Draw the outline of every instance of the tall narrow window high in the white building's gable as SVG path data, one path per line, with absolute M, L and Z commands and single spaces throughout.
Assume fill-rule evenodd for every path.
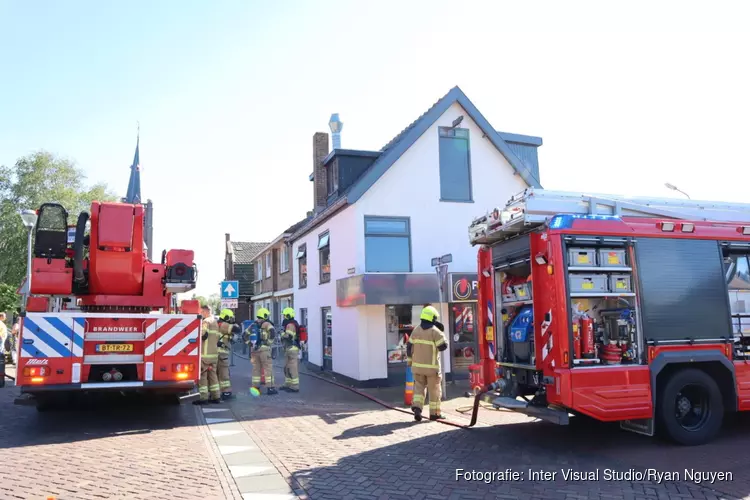
M 440 127 L 440 201 L 472 201 L 469 130 Z

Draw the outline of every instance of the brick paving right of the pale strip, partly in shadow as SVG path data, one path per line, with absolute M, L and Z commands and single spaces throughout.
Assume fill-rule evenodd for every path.
M 245 389 L 247 363 L 236 363 L 235 385 Z M 280 369 L 276 377 L 281 377 Z M 747 420 L 735 424 L 716 444 L 686 449 L 589 420 L 562 428 L 489 410 L 482 420 L 504 425 L 466 431 L 437 423 L 416 424 L 406 415 L 326 382 L 303 375 L 302 385 L 299 395 L 250 399 L 240 394 L 233 410 L 248 433 L 275 456 L 287 479 L 313 499 L 713 499 L 750 494 L 750 472 L 743 467 L 750 444 L 750 432 L 742 429 Z M 560 472 L 568 468 L 598 469 L 602 475 L 605 468 L 682 472 L 685 467 L 732 471 L 734 480 L 696 485 L 602 478 L 566 484 Z M 455 477 L 456 469 L 507 468 L 522 472 L 524 480 L 486 484 Z M 529 480 L 529 469 L 557 471 L 556 481 Z

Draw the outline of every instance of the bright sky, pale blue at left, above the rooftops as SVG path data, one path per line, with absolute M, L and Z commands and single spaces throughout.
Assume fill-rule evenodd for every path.
M 155 254 L 194 249 L 202 294 L 224 233 L 312 208 L 331 113 L 379 149 L 455 85 L 544 139 L 545 188 L 750 202 L 748 7 L 521 4 L 0 0 L 0 163 L 46 149 L 124 195 L 140 122 Z

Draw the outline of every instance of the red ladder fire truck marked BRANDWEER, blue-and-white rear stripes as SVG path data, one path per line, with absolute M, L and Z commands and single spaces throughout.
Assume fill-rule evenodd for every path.
M 93 202 L 74 230 L 54 203 L 37 211 L 21 313 L 17 404 L 48 409 L 93 391 L 143 391 L 191 399 L 200 374 L 192 250 L 151 262 L 144 208 Z

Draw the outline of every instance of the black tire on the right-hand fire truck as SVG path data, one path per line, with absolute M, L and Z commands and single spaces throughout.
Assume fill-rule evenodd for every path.
M 716 381 L 702 370 L 680 370 L 659 391 L 656 415 L 672 441 L 696 446 L 711 441 L 724 420 L 724 402 Z

